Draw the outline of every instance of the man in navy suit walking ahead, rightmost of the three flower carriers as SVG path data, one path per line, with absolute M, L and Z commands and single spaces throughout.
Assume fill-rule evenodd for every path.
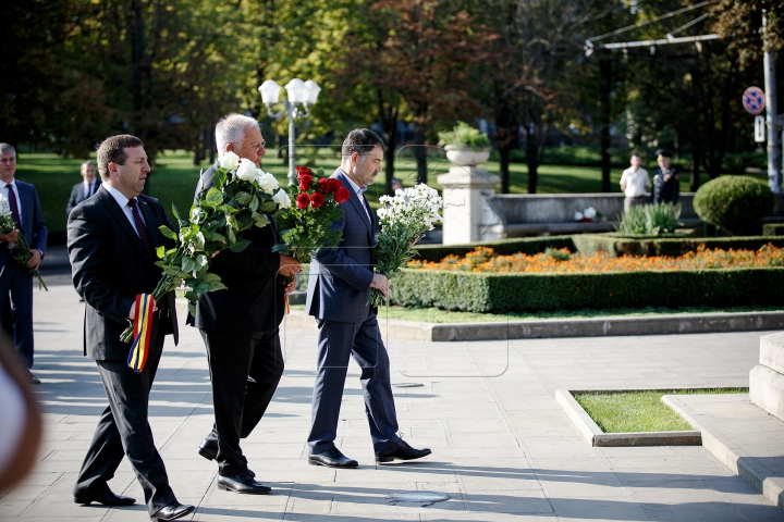
M 362 369 L 359 381 L 376 462 L 419 459 L 430 450 L 414 449 L 397 435 L 389 356 L 376 310 L 367 303 L 371 288 L 384 296 L 389 289 L 387 277 L 372 272 L 376 225 L 365 198 L 367 186 L 381 172 L 383 141 L 370 129 L 354 129 L 343 141 L 342 156 L 341 166 L 331 177 L 351 194 L 341 203 L 343 216 L 332 224 L 343 232 L 343 239 L 338 248 L 319 250 L 310 263 L 305 304 L 319 328 L 308 462 L 331 468 L 358 465 L 334 445 L 350 356 Z

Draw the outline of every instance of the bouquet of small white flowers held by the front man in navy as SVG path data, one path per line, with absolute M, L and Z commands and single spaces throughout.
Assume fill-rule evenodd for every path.
M 375 271 L 392 278 L 414 257 L 414 245 L 422 233 L 432 231 L 436 223 L 443 221 L 439 213 L 443 200 L 438 190 L 421 184 L 399 188 L 394 196 L 381 196 L 379 202 L 383 207 L 378 211 L 381 232 L 373 247 Z M 369 304 L 378 307 L 383 302 L 383 294 L 373 288 Z

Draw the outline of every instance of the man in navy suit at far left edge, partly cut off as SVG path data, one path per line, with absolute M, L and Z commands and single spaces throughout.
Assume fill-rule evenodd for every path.
M 33 368 L 33 274 L 46 251 L 47 226 L 44 221 L 38 192 L 29 183 L 14 179 L 16 173 L 16 151 L 8 144 L 0 144 L 0 194 L 5 199 L 5 210 L 11 212 L 16 228 L 8 234 L 0 232 L 0 318 L 5 313 L 8 295 L 11 291 L 13 306 L 13 339 L 22 363 L 27 368 L 30 384 L 40 384 L 38 377 L 29 372 Z M 20 231 L 30 248 L 30 259 L 26 266 L 13 260 L 10 248 L 19 237 Z M 11 333 L 11 332 L 9 332 Z

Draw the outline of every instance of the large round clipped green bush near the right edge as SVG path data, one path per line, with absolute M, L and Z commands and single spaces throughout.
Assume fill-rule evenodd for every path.
M 774 204 L 768 185 L 749 176 L 720 176 L 702 185 L 694 198 L 697 215 L 736 236 L 758 226 Z

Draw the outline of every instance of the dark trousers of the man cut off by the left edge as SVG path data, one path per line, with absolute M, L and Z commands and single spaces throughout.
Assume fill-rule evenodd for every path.
M 0 318 L 5 312 L 11 290 L 11 316 L 13 321 L 14 347 L 22 362 L 33 368 L 33 276 L 27 266 L 22 266 L 8 253 L 5 268 L 0 275 Z

